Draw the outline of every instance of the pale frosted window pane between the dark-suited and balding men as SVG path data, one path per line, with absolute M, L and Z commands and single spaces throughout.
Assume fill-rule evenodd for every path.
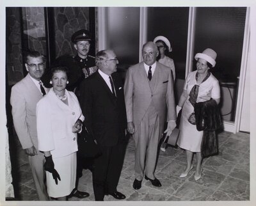
M 113 49 L 118 70 L 126 70 L 139 61 L 140 8 L 106 8 L 106 49 Z

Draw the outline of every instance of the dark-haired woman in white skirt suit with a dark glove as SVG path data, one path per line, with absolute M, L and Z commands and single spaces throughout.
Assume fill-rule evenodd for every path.
M 67 68 L 52 68 L 52 88 L 36 105 L 38 149 L 44 152 L 47 192 L 67 200 L 76 184 L 77 132 L 84 116 L 76 95 L 65 88 Z

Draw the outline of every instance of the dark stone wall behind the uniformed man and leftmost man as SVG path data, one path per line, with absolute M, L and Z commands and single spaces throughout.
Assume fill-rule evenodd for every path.
M 55 7 L 53 9 L 54 20 L 53 22 L 50 20 L 49 23 L 54 24 L 54 56 L 58 57 L 63 54 L 74 56 L 76 51 L 71 42 L 71 36 L 79 29 L 89 30 L 89 8 Z M 6 72 L 8 73 L 8 85 L 13 85 L 24 77 L 22 49 L 24 51 L 27 49 L 35 50 L 46 55 L 43 7 L 6 8 Z

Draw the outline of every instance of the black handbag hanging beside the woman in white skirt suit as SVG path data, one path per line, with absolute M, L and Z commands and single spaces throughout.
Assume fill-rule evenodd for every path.
M 97 145 L 92 133 L 86 129 L 85 125 L 83 125 L 82 132 L 77 138 L 77 145 L 78 155 L 81 157 L 99 157 L 102 155 L 99 145 Z

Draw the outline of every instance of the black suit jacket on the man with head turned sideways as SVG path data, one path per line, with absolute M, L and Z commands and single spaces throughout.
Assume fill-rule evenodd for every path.
M 81 83 L 80 104 L 86 125 L 92 131 L 97 143 L 113 146 L 124 138 L 127 127 L 124 103 L 124 89 L 117 72 L 111 75 L 116 97 L 99 72 L 95 72 Z

